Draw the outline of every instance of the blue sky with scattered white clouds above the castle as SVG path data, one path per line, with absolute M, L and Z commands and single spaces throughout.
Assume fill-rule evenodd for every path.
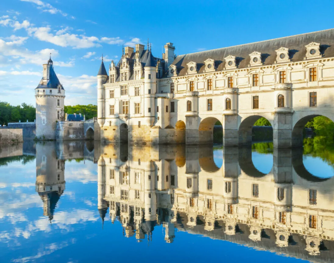
M 0 101 L 35 105 L 51 53 L 65 105 L 97 104 L 96 74 L 118 62 L 122 45 L 152 43 L 176 54 L 334 27 L 334 1 L 0 1 Z

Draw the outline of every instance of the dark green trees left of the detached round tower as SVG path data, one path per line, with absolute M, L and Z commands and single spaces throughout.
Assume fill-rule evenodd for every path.
M 8 122 L 33 122 L 36 119 L 36 109 L 32 105 L 22 103 L 12 106 L 7 102 L 0 101 L 0 125 L 7 125 Z

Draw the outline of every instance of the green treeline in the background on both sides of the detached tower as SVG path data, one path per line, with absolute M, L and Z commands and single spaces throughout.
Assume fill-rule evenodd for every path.
M 96 105 L 75 105 L 65 106 L 65 113 L 85 114 L 86 120 L 98 116 L 98 107 Z M 36 109 L 32 105 L 22 103 L 18 106 L 12 106 L 8 102 L 0 101 L 0 125 L 8 125 L 8 122 L 33 122 L 36 119 Z

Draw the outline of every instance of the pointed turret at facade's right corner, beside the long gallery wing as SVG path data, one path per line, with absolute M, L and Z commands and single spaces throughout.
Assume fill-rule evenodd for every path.
M 144 67 L 144 93 L 145 93 L 145 117 L 146 125 L 152 126 L 155 119 L 155 93 L 157 87 L 156 81 L 156 63 L 151 50 L 148 51 Z

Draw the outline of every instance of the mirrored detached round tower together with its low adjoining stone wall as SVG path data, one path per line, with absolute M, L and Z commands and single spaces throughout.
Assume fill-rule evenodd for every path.
M 44 142 L 36 144 L 35 189 L 43 201 L 43 215 L 53 219 L 57 202 L 65 190 L 65 159 L 94 158 L 91 142 Z M 90 156 L 93 155 L 93 157 Z

